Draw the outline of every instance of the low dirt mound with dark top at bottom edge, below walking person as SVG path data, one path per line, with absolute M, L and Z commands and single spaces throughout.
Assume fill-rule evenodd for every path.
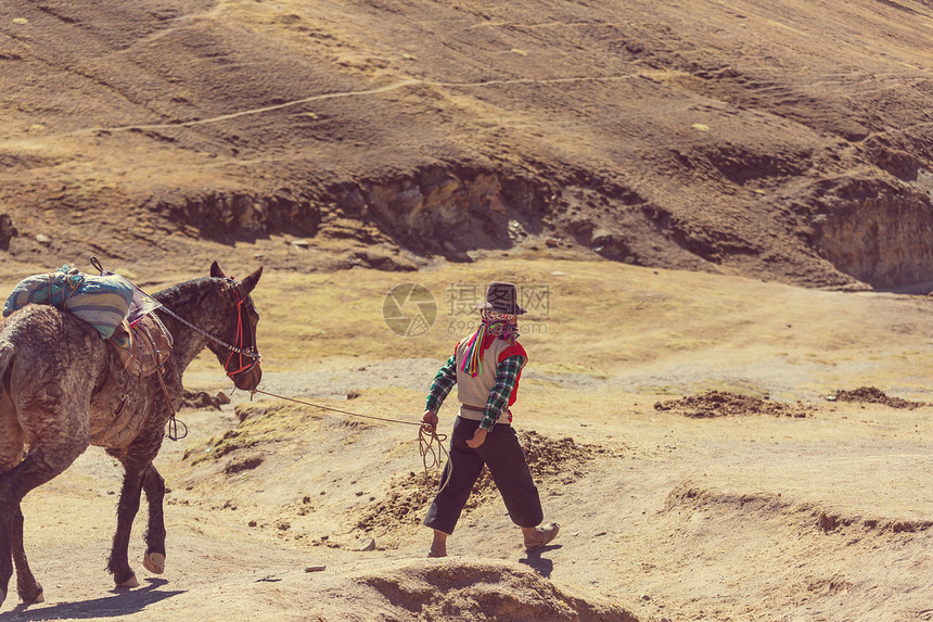
M 408 561 L 350 579 L 384 620 L 637 622 L 628 610 L 570 595 L 534 570 L 480 559 Z M 357 596 L 355 596 L 357 597 Z M 388 611 L 392 615 L 388 615 Z

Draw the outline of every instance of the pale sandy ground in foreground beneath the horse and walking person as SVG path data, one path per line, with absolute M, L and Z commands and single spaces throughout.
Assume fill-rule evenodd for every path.
M 386 404 L 400 404 L 414 418 L 417 388 L 437 363 L 267 373 L 265 386 L 358 414 L 386 416 Z M 269 397 L 244 404 L 241 394 L 220 411 L 184 411 L 190 436 L 166 441 L 158 458 L 172 488 L 164 575 L 137 562 L 142 586 L 113 588 L 104 564 L 119 480 L 111 460 L 91 449 L 27 497 L 27 546 L 47 601 L 24 607 L 13 594 L 2 615 L 933 619 L 931 407 L 818 399 L 789 405 L 805 416 L 749 407 L 698 417 L 686 407 L 659 409 L 663 401 L 610 383 L 588 389 L 593 407 L 583 408 L 567 399 L 584 394 L 570 377 L 562 385 L 529 373 L 524 390 L 537 397 L 532 414 L 516 418 L 521 430 L 540 435 L 539 449 L 560 449 L 538 480 L 547 518 L 562 533 L 539 554 L 524 554 L 487 490 L 461 519 L 450 557 L 425 559 L 429 534 L 418 522 L 431 485 L 418 473 L 413 427 L 290 410 Z M 315 395 L 324 385 L 331 393 Z M 342 386 L 360 395 L 334 399 Z M 448 407 L 442 416 L 449 424 Z M 264 421 L 301 430 L 264 435 Z M 234 429 L 242 443 L 197 461 Z M 573 442 L 559 446 L 567 436 Z M 254 455 L 263 458 L 258 466 L 230 467 Z M 389 504 L 393 492 L 410 496 L 411 507 Z M 369 531 L 360 529 L 363 519 Z M 375 549 L 358 550 L 367 537 Z M 141 555 L 135 537 L 131 559 Z

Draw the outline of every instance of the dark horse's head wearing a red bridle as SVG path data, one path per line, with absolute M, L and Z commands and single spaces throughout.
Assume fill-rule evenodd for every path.
M 242 281 L 237 281 L 228 277 L 217 262 L 210 265 L 210 276 L 225 281 L 221 295 L 226 300 L 223 306 L 229 308 L 229 312 L 226 312 L 228 316 L 221 318 L 225 329 L 223 334 L 219 337 L 235 350 L 215 343 L 208 343 L 208 347 L 223 366 L 237 389 L 243 391 L 253 391 L 263 378 L 263 370 L 259 369 L 259 348 L 256 345 L 256 325 L 259 322 L 259 314 L 256 313 L 253 299 L 250 297 L 261 275 L 260 267 Z

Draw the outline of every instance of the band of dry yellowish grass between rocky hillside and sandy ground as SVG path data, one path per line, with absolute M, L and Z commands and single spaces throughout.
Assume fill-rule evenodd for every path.
M 264 369 L 446 358 L 475 322 L 475 315 L 451 310 L 456 301 L 472 299 L 451 292 L 472 289 L 482 296 L 491 280 L 549 294 L 549 305 L 534 305 L 522 317 L 522 342 L 541 372 L 608 379 L 677 370 L 680 377 L 695 373 L 696 390 L 755 394 L 764 390 L 739 371 L 756 366 L 767 375 L 768 366 L 781 366 L 798 369 L 801 381 L 819 390 L 896 384 L 922 392 L 926 383 L 918 370 L 933 360 L 926 297 L 815 291 L 609 262 L 513 258 L 405 274 L 266 272 L 254 294 Z M 417 337 L 399 337 L 383 317 L 386 294 L 404 283 L 423 285 L 436 301 L 434 323 Z M 4 284 L 9 291 L 14 281 Z M 410 305 L 402 310 L 416 312 Z M 209 382 L 216 365 L 203 355 L 191 373 Z M 738 371 L 706 379 L 704 370 L 718 368 Z M 663 386 L 651 391 L 664 393 Z

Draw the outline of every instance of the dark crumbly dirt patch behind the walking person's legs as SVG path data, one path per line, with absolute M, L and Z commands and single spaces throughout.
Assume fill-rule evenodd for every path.
M 519 442 L 536 482 L 557 480 L 562 484 L 572 483 L 584 477 L 583 467 L 586 462 L 606 452 L 598 445 L 577 444 L 570 436 L 550 439 L 535 431 L 520 432 Z M 410 471 L 396 478 L 385 498 L 366 508 L 357 522 L 357 529 L 386 532 L 398 524 L 420 523 L 437 491 L 438 480 L 438 471 L 427 474 Z M 484 468 L 467 502 L 464 513 L 494 498 L 497 490 L 488 469 Z

